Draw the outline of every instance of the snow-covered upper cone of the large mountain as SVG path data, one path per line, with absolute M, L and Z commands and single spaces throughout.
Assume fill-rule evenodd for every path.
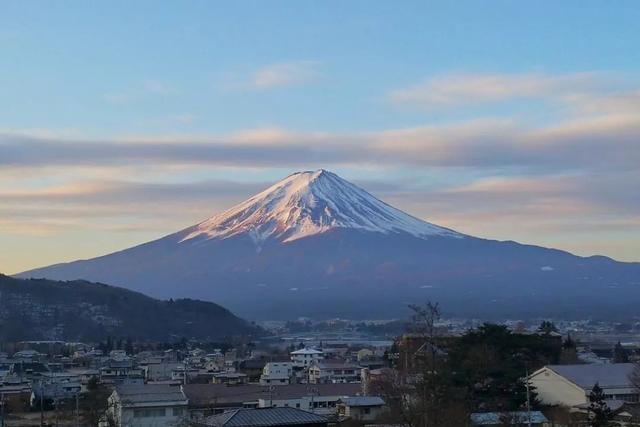
M 256 242 L 288 242 L 336 228 L 416 237 L 463 237 L 408 215 L 363 189 L 319 169 L 297 172 L 245 202 L 188 229 L 182 241 L 248 233 Z

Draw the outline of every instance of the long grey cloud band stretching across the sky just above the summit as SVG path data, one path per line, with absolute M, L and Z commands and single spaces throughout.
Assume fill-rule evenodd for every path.
M 515 120 L 474 120 L 382 132 L 258 129 L 230 135 L 136 139 L 0 135 L 0 169 L 34 165 L 209 164 L 235 167 L 388 165 L 629 169 L 640 164 L 640 115 L 567 120 L 531 128 Z

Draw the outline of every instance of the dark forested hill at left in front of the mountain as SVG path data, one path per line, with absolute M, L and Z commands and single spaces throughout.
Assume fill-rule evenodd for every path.
M 86 281 L 16 279 L 0 274 L 0 340 L 220 340 L 260 330 L 217 304 L 161 301 Z

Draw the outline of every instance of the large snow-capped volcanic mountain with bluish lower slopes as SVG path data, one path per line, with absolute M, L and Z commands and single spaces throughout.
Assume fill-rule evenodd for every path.
M 161 239 L 18 276 L 209 299 L 262 319 L 396 317 L 426 300 L 450 316 L 626 318 L 640 303 L 639 263 L 462 234 L 325 170 Z

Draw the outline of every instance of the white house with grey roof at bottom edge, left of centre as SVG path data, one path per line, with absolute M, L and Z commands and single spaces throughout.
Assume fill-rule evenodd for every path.
M 105 425 L 116 427 L 169 427 L 185 422 L 189 401 L 180 387 L 120 385 L 109 396 Z M 109 421 L 109 422 L 107 422 Z

